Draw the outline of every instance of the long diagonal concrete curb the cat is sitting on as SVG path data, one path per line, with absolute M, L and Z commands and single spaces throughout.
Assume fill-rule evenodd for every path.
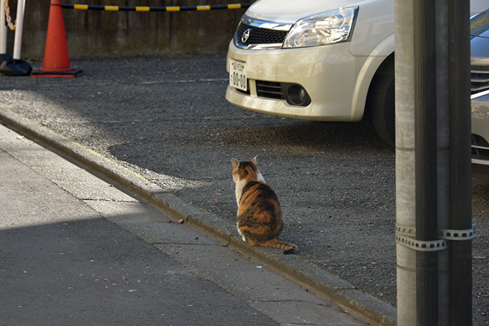
M 214 215 L 198 210 L 173 193 L 163 191 L 151 181 L 121 167 L 93 150 L 57 135 L 42 125 L 32 123 L 8 109 L 0 111 L 0 119 L 11 128 L 49 147 L 50 150 L 54 150 L 102 179 L 151 203 L 172 218 L 182 219 L 191 227 L 206 232 L 221 242 L 228 243 L 232 249 L 247 254 L 281 274 L 303 283 L 361 319 L 376 325 L 396 325 L 397 310 L 392 305 L 356 289 L 351 283 L 327 273 L 310 262 L 304 262 L 300 259 L 300 255 L 284 256 L 281 251 L 274 249 L 249 247 L 242 242 L 240 237 L 237 237 L 235 225 L 217 223 L 219 218 Z

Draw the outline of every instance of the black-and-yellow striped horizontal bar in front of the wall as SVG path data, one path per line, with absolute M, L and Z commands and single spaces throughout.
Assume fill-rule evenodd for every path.
M 164 7 L 147 7 L 147 6 L 99 6 L 91 4 L 60 4 L 64 9 L 79 10 L 105 10 L 105 11 L 208 11 L 219 9 L 242 9 L 251 6 L 247 4 L 211 4 L 202 6 L 164 6 Z

